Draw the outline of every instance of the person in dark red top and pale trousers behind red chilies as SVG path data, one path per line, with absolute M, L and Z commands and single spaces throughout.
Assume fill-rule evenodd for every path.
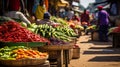
M 4 15 L 13 19 L 19 19 L 27 25 L 30 25 L 31 22 L 25 17 L 25 15 L 20 12 L 21 6 L 20 6 L 20 0 L 9 0 L 9 6 L 8 6 L 8 12 L 6 12 Z

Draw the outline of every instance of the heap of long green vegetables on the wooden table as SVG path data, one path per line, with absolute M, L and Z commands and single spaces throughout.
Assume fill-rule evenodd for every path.
M 52 27 L 47 24 L 39 25 L 36 30 L 36 33 L 40 34 L 41 36 L 50 39 L 51 43 L 57 41 L 58 43 L 61 42 L 69 42 L 71 41 L 71 37 L 76 36 L 73 29 L 69 27 Z

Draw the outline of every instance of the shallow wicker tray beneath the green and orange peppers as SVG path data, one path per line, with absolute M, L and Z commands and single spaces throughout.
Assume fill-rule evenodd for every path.
M 0 60 L 0 63 L 5 66 L 28 66 L 28 65 L 38 65 L 43 64 L 48 59 L 21 59 L 21 60 Z

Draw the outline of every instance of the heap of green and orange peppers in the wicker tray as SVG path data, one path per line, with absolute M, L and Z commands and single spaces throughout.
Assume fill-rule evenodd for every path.
M 47 53 L 32 50 L 24 46 L 12 46 L 0 49 L 0 59 L 2 60 L 39 59 L 47 57 Z

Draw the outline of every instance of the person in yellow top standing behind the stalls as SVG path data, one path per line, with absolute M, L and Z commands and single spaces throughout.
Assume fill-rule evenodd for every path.
M 44 0 L 39 1 L 39 5 L 36 8 L 35 11 L 35 17 L 37 20 L 43 19 L 44 13 L 46 12 L 45 5 L 44 5 Z

